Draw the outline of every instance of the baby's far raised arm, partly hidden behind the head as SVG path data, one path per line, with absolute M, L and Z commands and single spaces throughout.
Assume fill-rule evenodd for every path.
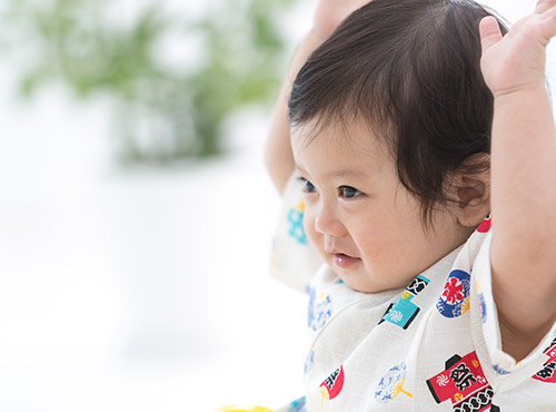
M 294 155 L 289 141 L 288 99 L 297 72 L 309 55 L 319 47 L 336 27 L 354 10 L 369 0 L 320 0 L 312 29 L 298 46 L 278 95 L 265 149 L 265 163 L 274 184 L 281 193 L 294 171 Z

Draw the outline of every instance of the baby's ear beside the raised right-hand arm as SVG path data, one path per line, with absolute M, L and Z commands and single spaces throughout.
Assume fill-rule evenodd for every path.
M 458 202 L 455 213 L 463 226 L 477 226 L 490 213 L 489 163 L 488 154 L 473 155 L 454 178 L 453 194 Z

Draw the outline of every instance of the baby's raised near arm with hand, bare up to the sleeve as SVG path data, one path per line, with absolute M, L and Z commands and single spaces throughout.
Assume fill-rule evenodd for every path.
M 556 0 L 500 36 L 480 23 L 481 69 L 495 97 L 492 144 L 493 292 L 504 350 L 525 357 L 556 320 L 556 127 L 545 87 Z

